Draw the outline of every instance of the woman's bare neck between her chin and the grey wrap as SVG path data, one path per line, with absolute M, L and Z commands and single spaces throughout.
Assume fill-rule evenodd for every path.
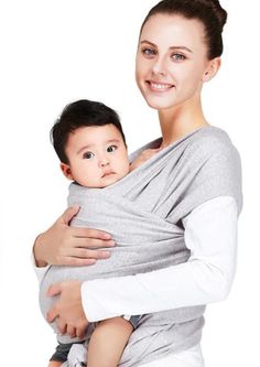
M 162 131 L 162 148 L 172 144 L 189 132 L 209 126 L 206 121 L 202 105 L 176 106 L 171 109 L 159 110 L 159 120 Z

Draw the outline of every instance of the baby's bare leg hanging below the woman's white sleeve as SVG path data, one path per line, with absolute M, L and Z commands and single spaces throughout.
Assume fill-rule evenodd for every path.
M 123 317 L 100 321 L 90 337 L 87 367 L 118 366 L 132 331 L 131 323 Z

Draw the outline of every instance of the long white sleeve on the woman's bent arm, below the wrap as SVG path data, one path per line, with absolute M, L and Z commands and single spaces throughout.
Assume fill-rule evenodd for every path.
M 90 322 L 123 314 L 206 304 L 230 290 L 237 251 L 238 208 L 219 196 L 196 207 L 184 220 L 187 262 L 130 277 L 86 281 L 83 306 Z

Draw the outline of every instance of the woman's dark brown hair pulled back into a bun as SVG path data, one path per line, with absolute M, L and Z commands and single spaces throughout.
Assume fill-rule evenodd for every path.
M 145 17 L 140 34 L 147 21 L 155 14 L 178 14 L 186 19 L 196 19 L 204 24 L 205 43 L 208 60 L 223 54 L 223 28 L 227 21 L 227 12 L 218 0 L 163 0 L 153 7 Z

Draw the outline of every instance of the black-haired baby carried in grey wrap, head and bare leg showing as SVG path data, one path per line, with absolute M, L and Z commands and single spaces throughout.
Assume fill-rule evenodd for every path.
M 51 137 L 64 175 L 89 188 L 116 183 L 158 151 L 145 151 L 130 165 L 118 115 L 104 104 L 90 100 L 66 106 L 53 126 Z M 118 366 L 140 317 L 113 317 L 97 323 L 86 350 L 86 366 Z M 59 343 L 48 366 L 72 366 L 69 357 L 67 361 L 72 345 Z

